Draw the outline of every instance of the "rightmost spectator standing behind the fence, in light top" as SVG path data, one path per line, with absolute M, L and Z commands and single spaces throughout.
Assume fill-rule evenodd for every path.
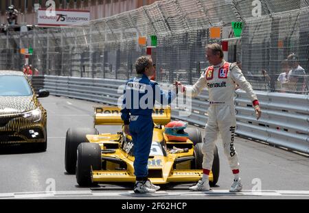
M 299 65 L 299 61 L 295 53 L 288 55 L 287 60 L 290 68 L 288 73 L 288 84 L 291 86 L 291 92 L 296 94 L 304 94 L 304 92 L 306 92 L 306 72 L 304 68 Z

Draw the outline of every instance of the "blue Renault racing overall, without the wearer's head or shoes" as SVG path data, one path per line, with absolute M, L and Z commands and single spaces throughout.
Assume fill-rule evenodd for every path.
M 175 97 L 176 92 L 163 92 L 157 82 L 150 81 L 144 74 L 126 82 L 121 112 L 124 125 L 129 124 L 133 139 L 133 166 L 137 178 L 148 176 L 148 158 L 154 127 L 152 110 L 155 101 L 167 105 Z

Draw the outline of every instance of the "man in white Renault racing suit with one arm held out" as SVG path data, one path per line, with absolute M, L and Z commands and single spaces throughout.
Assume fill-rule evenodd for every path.
M 230 64 L 223 60 L 223 51 L 218 44 L 207 45 L 206 57 L 209 64 L 213 64 L 205 69 L 198 82 L 194 86 L 183 86 L 180 82 L 175 82 L 181 86 L 185 95 L 196 97 L 203 88 L 207 87 L 209 92 L 208 121 L 205 127 L 205 138 L 202 147 L 203 153 L 203 178 L 196 186 L 190 187 L 194 191 L 209 190 L 209 172 L 214 161 L 214 147 L 218 132 L 221 134 L 225 155 L 229 161 L 229 166 L 234 175 L 230 192 L 242 190 L 239 177 L 238 155 L 234 149 L 234 134 L 236 131 L 236 114 L 233 103 L 233 95 L 236 84 L 249 95 L 257 118 L 261 116 L 261 110 L 257 96 L 249 82 L 242 75 L 242 71 L 236 64 Z

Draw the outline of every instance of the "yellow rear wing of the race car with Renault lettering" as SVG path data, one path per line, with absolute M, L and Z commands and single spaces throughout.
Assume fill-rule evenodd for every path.
M 152 110 L 152 119 L 155 124 L 165 125 L 170 122 L 170 107 Z M 121 112 L 118 107 L 95 107 L 94 125 L 123 125 Z

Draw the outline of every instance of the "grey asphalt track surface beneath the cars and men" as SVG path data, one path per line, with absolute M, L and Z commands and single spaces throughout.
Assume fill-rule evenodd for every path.
M 236 138 L 243 192 L 229 193 L 232 174 L 217 141 L 220 177 L 211 192 L 190 192 L 192 184 L 166 186 L 152 195 L 136 195 L 131 184 L 81 188 L 65 173 L 65 134 L 69 127 L 93 126 L 93 103 L 65 97 L 41 99 L 47 109 L 47 151 L 27 147 L 0 151 L 0 199 L 309 199 L 309 158 L 259 142 Z M 120 126 L 101 126 L 100 132 Z M 201 128 L 202 132 L 203 129 Z M 259 187 L 260 186 L 260 187 Z M 258 189 L 261 190 L 258 190 Z

